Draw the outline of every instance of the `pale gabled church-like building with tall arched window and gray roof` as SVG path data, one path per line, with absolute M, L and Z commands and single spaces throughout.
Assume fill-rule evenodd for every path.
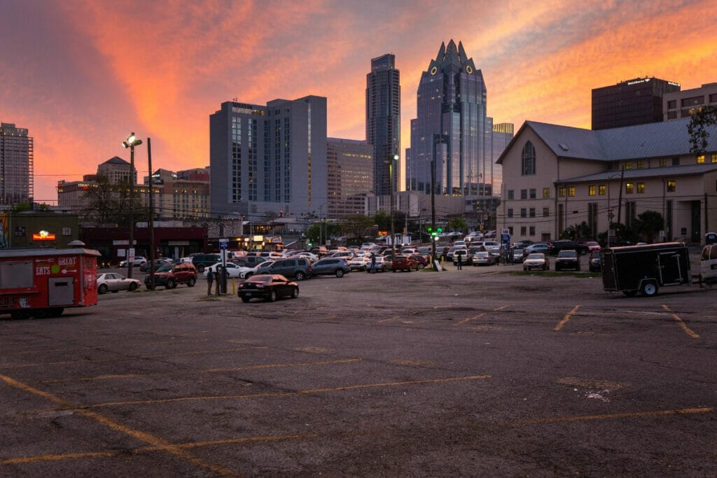
M 638 216 L 657 211 L 665 220 L 661 239 L 703 242 L 717 224 L 717 125 L 706 128 L 706 153 L 695 158 L 689 122 L 597 131 L 523 123 L 498 160 L 498 227 L 513 242 L 543 242 L 584 224 L 590 239 L 604 240 L 609 224 L 637 231 Z

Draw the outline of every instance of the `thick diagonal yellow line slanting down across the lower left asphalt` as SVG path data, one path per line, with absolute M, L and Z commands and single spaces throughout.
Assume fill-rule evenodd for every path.
M 37 388 L 34 388 L 32 386 L 29 386 L 25 383 L 19 382 L 14 380 L 13 378 L 10 378 L 8 376 L 0 375 L 0 380 L 7 383 L 9 386 L 18 388 L 19 390 L 32 393 L 36 396 L 41 396 L 42 398 L 45 398 L 52 403 L 55 403 L 62 408 L 69 408 L 72 410 L 77 410 L 77 413 L 84 416 L 87 419 L 91 419 L 93 421 L 98 422 L 99 424 L 102 424 L 106 426 L 108 429 L 111 429 L 113 431 L 117 431 L 119 433 L 125 434 L 127 436 L 131 436 L 133 439 L 143 441 L 146 444 L 149 444 L 153 447 L 155 447 L 158 451 L 166 451 L 168 454 L 174 455 L 174 457 L 177 457 L 184 462 L 188 462 L 193 464 L 196 467 L 199 467 L 201 469 L 204 469 L 206 471 L 219 474 L 221 476 L 235 476 L 237 475 L 237 472 L 235 472 L 232 469 L 229 469 L 227 467 L 223 467 L 222 465 L 217 464 L 211 464 L 208 462 L 205 462 L 203 459 L 199 457 L 195 457 L 193 454 L 189 453 L 188 451 L 179 448 L 178 446 L 175 446 L 168 441 L 165 441 L 161 438 L 158 438 L 157 436 L 153 436 L 152 434 L 148 434 L 144 431 L 131 429 L 128 426 L 125 426 L 123 424 L 120 424 L 117 421 L 114 421 L 112 419 L 108 419 L 108 417 L 103 416 L 101 414 L 98 414 L 95 411 L 86 410 L 84 408 L 80 408 L 75 406 L 72 403 L 69 403 L 62 398 L 53 395 L 52 393 L 44 392 L 42 390 L 39 390 Z

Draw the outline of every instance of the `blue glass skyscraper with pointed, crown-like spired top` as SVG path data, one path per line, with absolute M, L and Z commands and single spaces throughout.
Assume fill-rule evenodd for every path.
M 492 188 L 493 119 L 486 117 L 483 73 L 462 43 L 441 44 L 421 75 L 417 118 L 411 120 L 411 148 L 406 151 L 406 188 L 435 193 L 481 196 Z

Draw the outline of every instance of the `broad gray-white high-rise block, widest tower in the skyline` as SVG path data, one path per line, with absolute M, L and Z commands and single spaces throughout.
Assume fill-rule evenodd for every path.
M 326 97 L 222 103 L 209 116 L 209 166 L 214 216 L 326 208 Z

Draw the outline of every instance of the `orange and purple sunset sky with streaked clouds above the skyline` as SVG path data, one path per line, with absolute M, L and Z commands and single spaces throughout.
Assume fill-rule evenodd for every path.
M 0 121 L 34 138 L 35 200 L 152 138 L 154 168 L 209 165 L 209 115 L 236 97 L 328 98 L 328 135 L 365 139 L 371 58 L 401 70 L 402 151 L 421 72 L 461 41 L 488 115 L 590 128 L 591 90 L 717 81 L 715 0 L 0 0 Z M 136 150 L 146 176 L 146 145 Z

